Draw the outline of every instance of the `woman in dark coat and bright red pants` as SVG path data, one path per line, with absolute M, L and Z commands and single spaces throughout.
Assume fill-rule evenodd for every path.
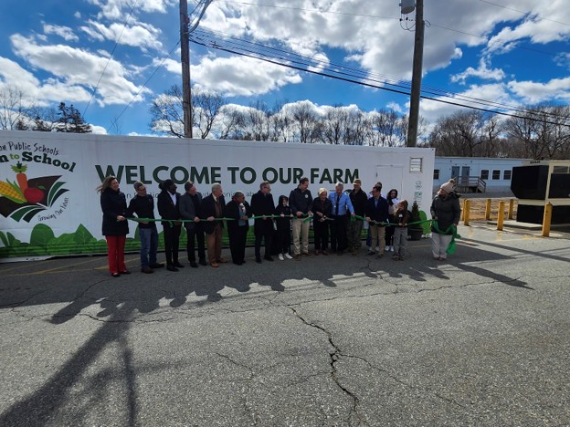
M 124 262 L 124 245 L 129 234 L 129 224 L 125 218 L 127 199 L 119 189 L 119 182 L 114 176 L 103 180 L 97 191 L 100 193 L 101 211 L 103 212 L 102 234 L 107 240 L 109 272 L 113 277 L 128 275 Z

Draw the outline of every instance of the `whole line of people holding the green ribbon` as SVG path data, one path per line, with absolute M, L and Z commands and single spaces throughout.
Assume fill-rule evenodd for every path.
M 182 227 L 187 235 L 186 253 L 191 267 L 219 267 L 227 263 L 222 256 L 222 234 L 226 224 L 231 261 L 241 266 L 246 262 L 245 249 L 249 220 L 253 219 L 255 235 L 255 260 L 272 262 L 273 248 L 281 261 L 301 260 L 302 256 L 358 255 L 362 247 L 361 234 L 364 221 L 368 224 L 367 255 L 382 257 L 394 252 L 395 260 L 406 257 L 407 225 L 411 221 L 406 200 L 398 200 L 397 191 L 382 193 L 382 183 L 376 182 L 370 193 L 364 193 L 362 182 L 355 179 L 353 189 L 344 191 L 337 182 L 334 192 L 320 188 L 313 199 L 309 179 L 301 178 L 289 197 L 280 195 L 274 203 L 269 182 L 261 182 L 259 191 L 246 201 L 245 194 L 236 192 L 226 203 L 222 185 L 214 183 L 211 193 L 203 197 L 194 182 L 185 182 L 185 193 L 178 193 L 172 180 L 159 184 L 156 204 L 160 220 L 154 217 L 154 199 L 142 182 L 134 183 L 136 195 L 127 206 L 119 182 L 108 176 L 98 187 L 103 212 L 102 234 L 108 247 L 111 276 L 130 274 L 124 262 L 124 246 L 129 234 L 128 220 L 139 225 L 141 239 L 141 271 L 151 274 L 164 267 L 157 262 L 158 231 L 161 222 L 164 234 L 164 256 L 169 271 L 179 271 L 184 265 L 179 260 L 179 244 Z M 453 225 L 459 224 L 459 193 L 453 182 L 443 184 L 431 204 L 432 255 L 446 259 L 446 248 L 454 233 Z M 313 225 L 314 250 L 309 251 L 309 229 Z M 293 251 L 290 254 L 290 236 Z M 264 245 L 263 256 L 261 246 Z M 197 251 L 197 262 L 196 253 Z

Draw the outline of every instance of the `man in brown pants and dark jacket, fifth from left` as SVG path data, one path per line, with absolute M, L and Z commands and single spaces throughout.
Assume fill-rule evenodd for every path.
M 204 233 L 206 233 L 207 255 L 210 266 L 217 268 L 220 263 L 227 263 L 222 258 L 222 231 L 226 200 L 222 191 L 222 184 L 212 184 L 212 193 L 202 199 L 202 213 L 206 217 Z

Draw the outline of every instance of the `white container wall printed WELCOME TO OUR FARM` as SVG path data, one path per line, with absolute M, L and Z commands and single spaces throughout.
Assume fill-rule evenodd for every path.
M 300 178 L 320 187 L 335 182 L 365 192 L 375 182 L 383 193 L 396 188 L 424 210 L 431 202 L 435 153 L 432 149 L 332 146 L 283 142 L 180 140 L 93 134 L 0 131 L 0 258 L 104 253 L 100 195 L 96 187 L 114 175 L 127 196 L 142 181 L 157 195 L 158 183 L 172 179 L 210 193 L 221 182 L 227 200 L 242 191 L 249 200 L 262 181 L 271 182 L 277 202 Z M 425 205 L 425 206 L 422 206 Z M 157 214 L 157 213 L 156 213 Z M 127 249 L 138 247 L 130 223 Z M 159 227 L 160 229 L 160 227 Z

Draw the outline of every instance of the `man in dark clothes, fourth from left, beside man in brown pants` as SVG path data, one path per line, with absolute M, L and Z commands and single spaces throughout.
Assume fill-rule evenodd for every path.
M 190 266 L 196 268 L 195 262 L 195 243 L 198 242 L 198 259 L 202 266 L 206 265 L 206 245 L 204 241 L 204 230 L 200 217 L 202 215 L 202 194 L 199 193 L 194 182 L 185 183 L 185 193 L 180 197 L 180 215 L 186 220 L 184 225 L 186 229 L 187 244 L 186 251 L 188 253 L 188 261 Z

